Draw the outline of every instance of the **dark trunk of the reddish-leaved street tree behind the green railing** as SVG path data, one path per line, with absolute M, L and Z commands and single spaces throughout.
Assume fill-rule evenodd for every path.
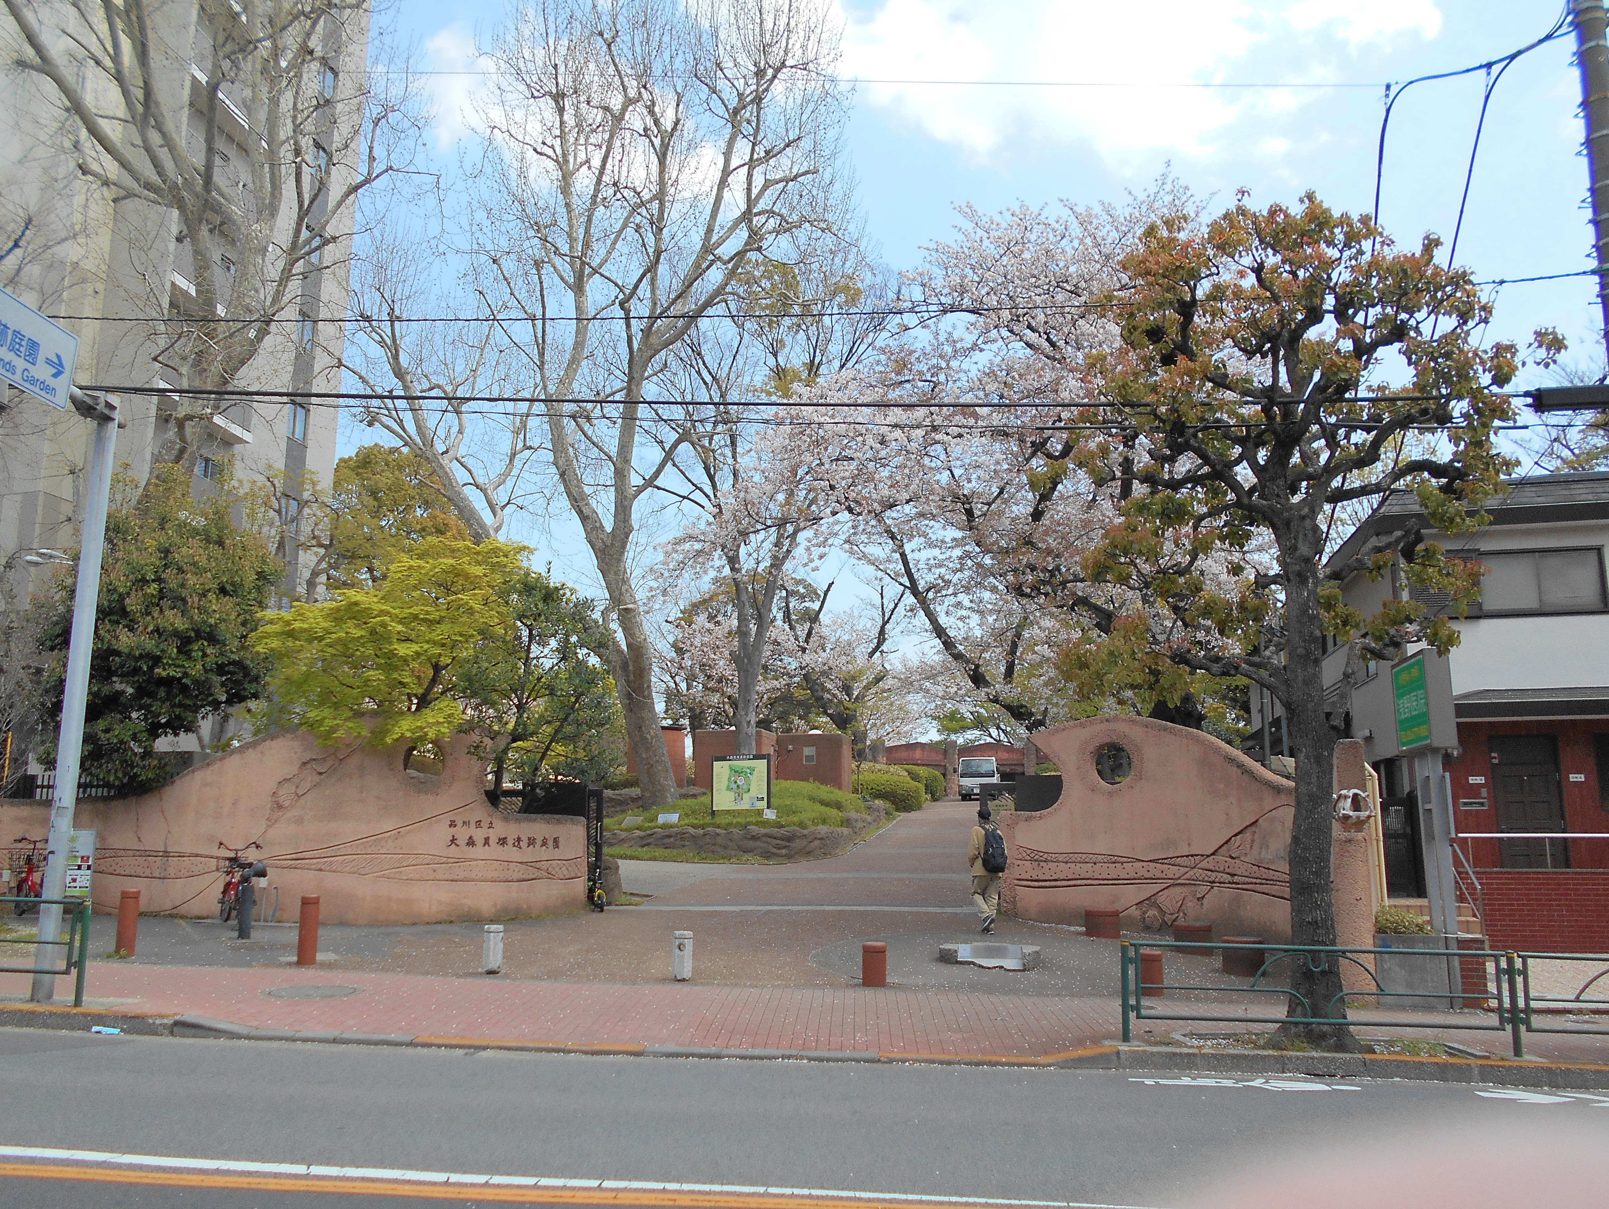
M 1290 941 L 1298 945 L 1335 944 L 1335 902 L 1331 884 L 1331 805 L 1334 740 L 1324 715 L 1324 646 L 1319 622 L 1316 526 L 1303 526 L 1289 545 L 1281 542 L 1286 574 L 1286 725 L 1297 760 L 1295 818 L 1290 823 Z M 1323 1050 L 1356 1053 L 1347 1024 L 1313 1024 L 1308 1018 L 1347 1018 L 1347 998 L 1335 955 L 1289 958 L 1292 997 L 1276 1043 L 1302 1042 Z

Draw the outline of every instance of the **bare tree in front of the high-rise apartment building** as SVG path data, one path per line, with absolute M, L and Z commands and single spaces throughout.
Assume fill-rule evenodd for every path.
M 235 383 L 275 325 L 307 318 L 309 278 L 339 270 L 356 196 L 393 170 L 414 122 L 409 74 L 365 74 L 368 5 L 0 2 L 18 66 L 72 119 L 77 172 L 117 204 L 172 215 L 129 236 L 153 359 L 180 392 Z M 169 453 L 193 457 L 217 410 L 204 394 L 182 405 Z

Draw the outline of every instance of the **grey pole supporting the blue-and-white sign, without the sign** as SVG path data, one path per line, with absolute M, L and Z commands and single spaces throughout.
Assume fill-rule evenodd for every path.
M 69 379 L 71 381 L 71 379 Z M 50 839 L 45 844 L 42 899 L 61 899 L 68 889 L 68 836 L 79 802 L 79 757 L 84 749 L 84 707 L 90 688 L 90 654 L 95 648 L 95 604 L 100 598 L 100 561 L 106 542 L 106 505 L 111 498 L 113 445 L 117 441 L 117 402 L 109 395 L 69 391 L 72 407 L 95 421 L 88 490 L 84 494 L 84 540 L 79 547 L 79 579 L 72 592 L 72 643 L 68 646 L 68 683 L 61 695 L 61 735 L 56 740 L 56 789 L 50 802 Z M 56 957 L 61 941 L 61 904 L 39 907 L 39 945 L 34 949 L 34 1003 L 56 997 Z M 82 960 L 82 953 L 79 958 Z

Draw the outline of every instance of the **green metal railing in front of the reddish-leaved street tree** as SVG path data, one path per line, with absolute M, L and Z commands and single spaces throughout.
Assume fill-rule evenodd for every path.
M 1142 974 L 1142 949 L 1155 950 L 1173 950 L 1181 955 L 1200 955 L 1210 957 L 1213 952 L 1224 950 L 1242 950 L 1247 955 L 1266 953 L 1268 957 L 1261 961 L 1257 974 L 1252 976 L 1249 986 L 1213 986 L 1200 982 L 1146 982 Z M 1480 990 L 1466 990 L 1463 979 L 1459 986 L 1448 986 L 1445 990 L 1437 987 L 1432 990 L 1414 989 L 1414 990 L 1387 990 L 1381 986 L 1381 979 L 1374 968 L 1363 961 L 1363 957 L 1377 957 L 1381 953 L 1389 953 L 1392 957 L 1406 958 L 1437 958 L 1445 965 L 1451 963 L 1451 958 L 1459 960 L 1459 973 L 1463 974 L 1466 961 L 1479 961 L 1480 969 Z M 1535 953 L 1533 957 L 1551 957 L 1551 953 Z M 1609 960 L 1609 958 L 1599 958 Z M 1368 974 L 1372 987 L 1358 990 L 1344 989 L 1334 995 L 1326 1003 L 1315 1005 L 1302 992 L 1290 986 L 1278 986 L 1274 977 L 1289 969 L 1295 969 L 1298 963 L 1307 963 L 1311 973 L 1319 973 L 1329 969 L 1332 965 L 1344 968 L 1348 963 L 1364 974 Z M 1559 1032 L 1559 1029 L 1530 1029 L 1529 1016 L 1530 1006 L 1522 998 L 1522 963 L 1519 953 L 1506 953 L 1493 949 L 1344 949 L 1339 945 L 1231 945 L 1231 944 L 1212 944 L 1202 941 L 1147 941 L 1144 945 L 1138 945 L 1133 941 L 1123 941 L 1120 945 L 1120 961 L 1121 966 L 1121 1000 L 1123 1000 L 1123 1040 L 1133 1040 L 1133 1021 L 1136 1019 L 1155 1019 L 1155 1021 L 1194 1021 L 1194 1023 L 1220 1023 L 1220 1024 L 1292 1024 L 1303 1021 L 1335 1021 L 1347 1024 L 1364 1024 L 1371 1029 L 1459 1029 L 1471 1032 L 1508 1032 L 1509 1045 L 1514 1050 L 1516 1058 L 1525 1056 L 1525 1039 L 1524 1029 L 1532 1032 Z M 1490 968 L 1488 968 L 1490 966 Z M 1276 969 L 1279 968 L 1279 969 Z M 1490 977 L 1487 976 L 1490 973 Z M 1165 977 L 1165 976 L 1163 976 Z M 1294 979 L 1290 979 L 1294 981 Z M 1212 995 L 1279 995 L 1284 998 L 1284 1014 L 1210 1014 L 1205 1011 L 1157 1011 L 1155 1008 L 1146 1006 L 1146 998 L 1154 995 L 1162 995 L 1168 990 L 1175 992 L 1194 992 L 1194 994 L 1212 994 Z M 1149 994 L 1147 994 L 1149 992 Z M 1345 1010 L 1347 998 L 1374 998 L 1374 1000 L 1426 1000 L 1437 998 L 1446 1000 L 1448 1006 L 1453 1006 L 1453 1000 L 1459 1005 L 1464 1000 L 1475 1000 L 1479 1005 L 1477 1011 L 1469 1014 L 1461 1014 L 1458 1019 L 1381 1019 L 1376 1014 L 1369 1014 L 1363 1019 L 1348 1018 Z M 1231 1000 L 1232 1002 L 1232 1000 Z M 1493 1010 L 1485 1010 L 1487 1003 L 1493 1005 Z M 1521 1005 L 1516 1010 L 1516 1005 Z M 1221 1005 L 1220 1005 L 1221 1006 Z M 1339 1006 L 1339 1011 L 1337 1011 Z M 1297 1010 L 1294 1010 L 1297 1008 Z M 1318 1008 L 1318 1010 L 1315 1010 Z M 1599 1032 L 1598 1029 L 1569 1029 L 1569 1032 Z

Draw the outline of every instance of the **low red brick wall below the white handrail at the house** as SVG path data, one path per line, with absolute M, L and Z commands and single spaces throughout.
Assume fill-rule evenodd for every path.
M 1609 870 L 1482 870 L 1487 944 L 1609 953 Z

